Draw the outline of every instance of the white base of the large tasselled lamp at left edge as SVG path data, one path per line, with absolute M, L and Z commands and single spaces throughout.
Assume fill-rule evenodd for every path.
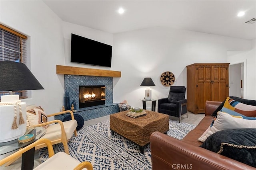
M 23 136 L 26 132 L 26 103 L 21 102 L 22 117 L 24 119 L 24 124 L 20 125 L 20 112 L 19 107 L 17 108 L 17 129 L 12 129 L 12 123 L 14 121 L 14 104 L 19 101 L 19 95 L 7 95 L 1 96 L 0 102 L 0 143 L 12 141 Z M 10 103 L 5 105 L 6 103 Z

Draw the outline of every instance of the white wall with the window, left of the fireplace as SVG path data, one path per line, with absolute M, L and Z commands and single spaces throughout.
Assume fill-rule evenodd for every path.
M 44 87 L 32 90 L 27 105 L 42 106 L 46 113 L 60 111 L 64 95 L 64 77 L 56 74 L 56 64 L 64 64 L 62 20 L 42 1 L 0 1 L 0 20 L 28 36 L 30 70 Z

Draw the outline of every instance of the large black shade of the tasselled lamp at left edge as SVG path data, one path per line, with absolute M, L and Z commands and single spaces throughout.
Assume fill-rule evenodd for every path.
M 24 63 L 0 61 L 0 91 L 44 89 Z

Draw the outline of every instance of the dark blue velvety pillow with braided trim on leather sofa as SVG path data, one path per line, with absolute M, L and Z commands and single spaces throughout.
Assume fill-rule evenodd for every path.
M 226 129 L 200 146 L 256 168 L 256 129 Z

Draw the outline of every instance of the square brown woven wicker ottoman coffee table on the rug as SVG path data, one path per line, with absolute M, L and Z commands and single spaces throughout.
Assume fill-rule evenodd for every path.
M 144 153 L 144 148 L 149 144 L 149 137 L 154 131 L 167 133 L 169 130 L 169 116 L 155 111 L 146 110 L 146 115 L 132 118 L 126 116 L 128 111 L 122 111 L 110 115 L 111 134 L 125 137 L 140 147 L 140 152 Z

